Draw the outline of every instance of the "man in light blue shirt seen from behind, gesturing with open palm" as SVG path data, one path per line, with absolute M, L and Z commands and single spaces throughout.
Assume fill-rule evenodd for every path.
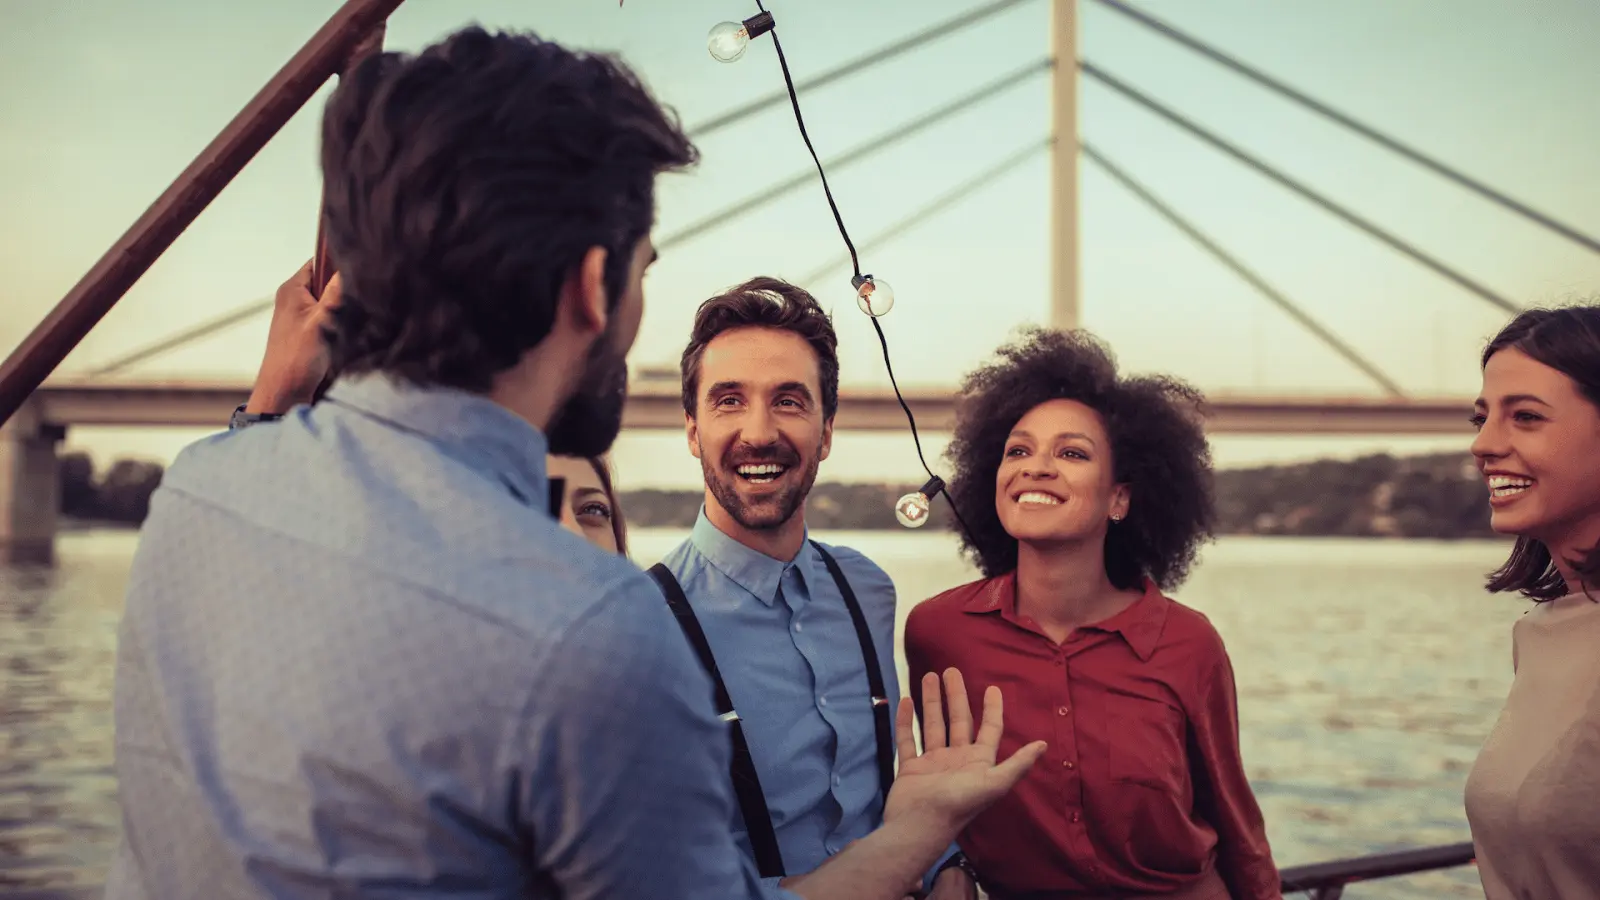
M 322 157 L 341 299 L 285 285 L 264 424 L 186 448 L 141 533 L 106 897 L 760 895 L 709 679 L 544 471 L 618 434 L 693 147 L 614 59 L 466 29 L 341 78 Z M 1038 757 L 995 765 L 998 705 L 973 741 L 949 695 L 920 756 L 899 708 L 891 815 L 795 895 L 893 900 Z

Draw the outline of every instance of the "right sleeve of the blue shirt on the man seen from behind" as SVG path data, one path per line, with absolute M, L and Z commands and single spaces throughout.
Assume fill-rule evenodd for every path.
M 763 889 L 728 828 L 710 679 L 643 575 L 616 594 L 552 644 L 510 748 L 536 866 L 570 900 L 797 900 Z

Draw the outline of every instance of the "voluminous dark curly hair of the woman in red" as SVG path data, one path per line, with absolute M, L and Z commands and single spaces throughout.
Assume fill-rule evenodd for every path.
M 1118 376 L 1110 351 L 1088 331 L 1029 328 L 997 356 L 962 386 L 946 450 L 955 466 L 950 500 L 971 528 L 962 546 L 984 577 L 1016 570 L 1016 538 L 995 511 L 1011 429 L 1040 404 L 1077 400 L 1101 415 L 1115 479 L 1130 485 L 1128 517 L 1106 535 L 1110 583 L 1181 585 L 1216 520 L 1205 397 L 1174 378 Z

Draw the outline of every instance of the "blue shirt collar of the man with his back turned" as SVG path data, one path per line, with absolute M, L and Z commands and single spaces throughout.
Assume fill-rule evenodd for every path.
M 446 456 L 499 480 L 528 506 L 549 508 L 544 434 L 482 394 L 365 373 L 339 378 L 326 399 L 426 437 Z

